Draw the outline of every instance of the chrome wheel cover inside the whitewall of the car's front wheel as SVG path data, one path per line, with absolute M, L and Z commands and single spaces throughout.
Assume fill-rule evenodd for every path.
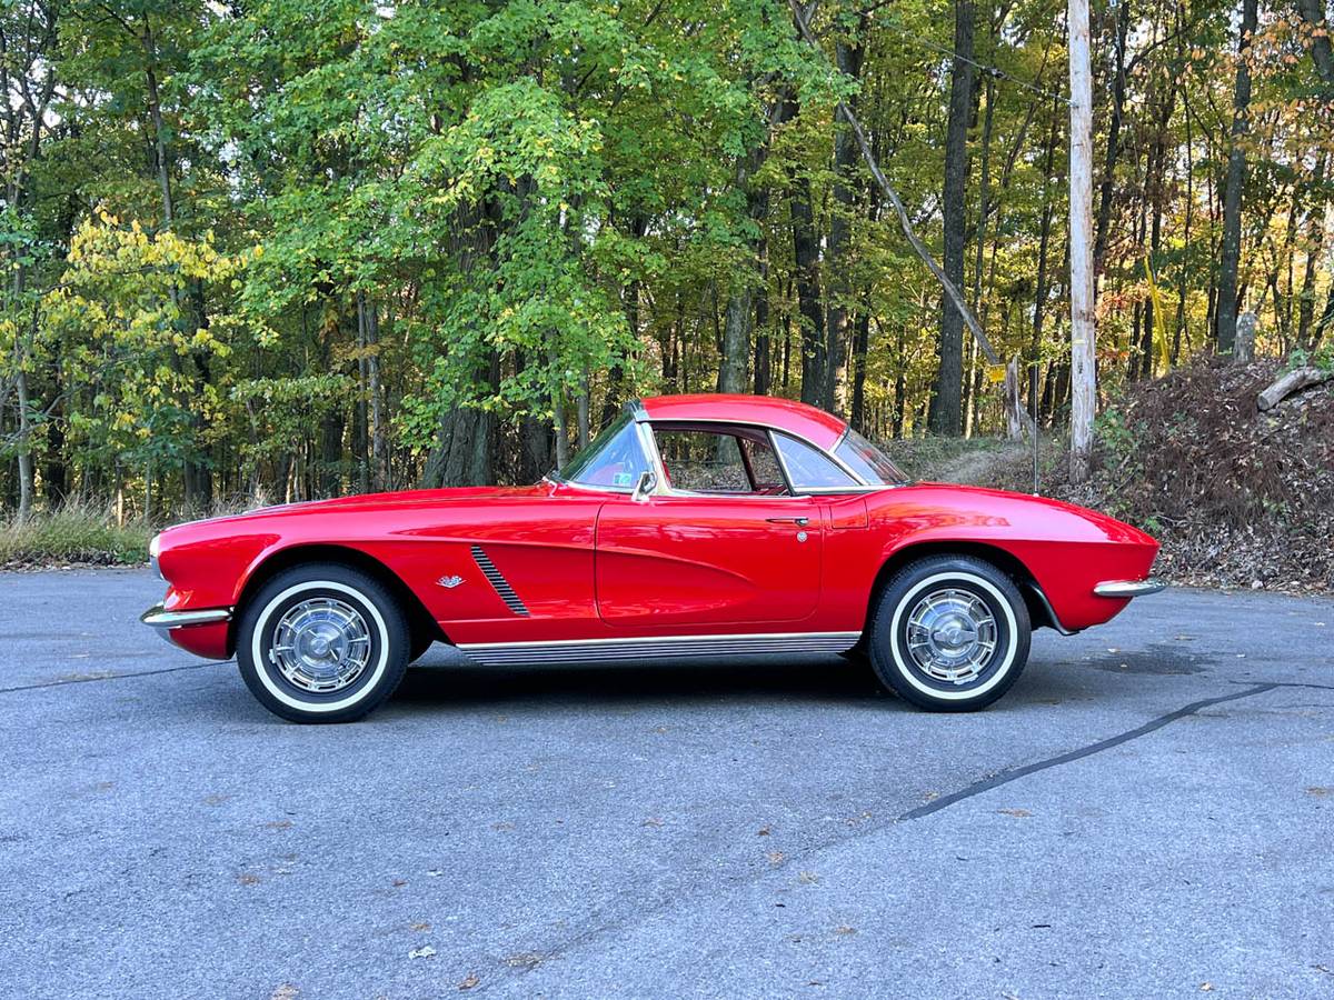
M 351 604 L 311 597 L 273 627 L 268 660 L 296 688 L 328 695 L 355 684 L 371 661 L 371 631 Z

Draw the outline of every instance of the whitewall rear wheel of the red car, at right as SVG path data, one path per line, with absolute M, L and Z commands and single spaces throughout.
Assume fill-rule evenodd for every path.
M 910 563 L 888 581 L 868 632 L 880 681 L 914 705 L 970 712 L 1000 697 L 1029 659 L 1023 597 L 971 556 Z

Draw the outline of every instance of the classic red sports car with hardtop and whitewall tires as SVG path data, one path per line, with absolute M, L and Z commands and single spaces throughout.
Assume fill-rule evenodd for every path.
M 434 641 L 482 664 L 864 656 L 912 704 L 975 709 L 1030 629 L 1161 588 L 1158 543 L 1055 500 L 912 483 L 842 420 L 756 396 L 626 407 L 519 488 L 424 489 L 180 524 L 143 620 L 233 653 L 268 709 L 347 721 Z

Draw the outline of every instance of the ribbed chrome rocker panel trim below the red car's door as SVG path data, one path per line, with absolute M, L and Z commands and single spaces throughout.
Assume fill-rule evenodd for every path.
M 762 653 L 842 653 L 860 632 L 776 632 L 712 636 L 636 636 L 538 643 L 460 643 L 459 651 L 484 665 L 603 663 L 686 656 L 752 656 Z

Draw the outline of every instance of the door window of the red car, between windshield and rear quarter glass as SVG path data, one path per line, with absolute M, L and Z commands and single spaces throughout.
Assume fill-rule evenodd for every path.
M 654 428 L 654 436 L 672 489 L 691 493 L 787 492 L 778 459 L 758 435 L 659 425 Z

